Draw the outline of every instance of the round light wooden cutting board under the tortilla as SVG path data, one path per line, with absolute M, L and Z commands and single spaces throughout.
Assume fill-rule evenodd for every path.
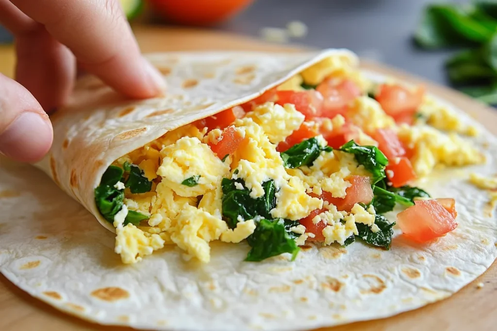
M 266 44 L 239 35 L 213 31 L 151 28 L 135 26 L 139 44 L 144 52 L 193 50 L 258 50 L 296 52 L 298 46 Z M 13 50 L 0 47 L 0 73 L 12 76 Z M 497 110 L 481 105 L 446 87 L 437 86 L 396 69 L 364 62 L 364 68 L 389 74 L 413 83 L 423 83 L 428 91 L 468 111 L 489 130 L 497 134 Z M 478 283 L 485 286 L 477 288 Z M 358 322 L 320 331 L 357 330 L 495 330 L 497 327 L 497 263 L 473 283 L 452 297 L 403 313 L 388 319 Z M 0 275 L 0 330 L 1 331 L 52 331 L 101 330 L 131 331 L 121 327 L 104 327 L 65 315 L 49 305 L 32 298 Z

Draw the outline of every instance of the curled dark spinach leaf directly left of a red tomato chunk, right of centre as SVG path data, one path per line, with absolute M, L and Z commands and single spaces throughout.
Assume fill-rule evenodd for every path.
M 385 166 L 388 164 L 388 159 L 378 147 L 359 146 L 354 140 L 350 140 L 341 146 L 340 150 L 355 155 L 357 162 L 373 175 L 371 184 L 374 185 L 386 177 Z

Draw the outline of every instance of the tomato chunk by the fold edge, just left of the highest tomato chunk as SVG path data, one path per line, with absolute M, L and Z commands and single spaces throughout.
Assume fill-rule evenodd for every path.
M 295 109 L 304 114 L 306 119 L 321 116 L 323 96 L 316 90 L 303 92 L 278 91 L 276 94 L 278 96 L 277 104 L 291 103 L 295 105 Z

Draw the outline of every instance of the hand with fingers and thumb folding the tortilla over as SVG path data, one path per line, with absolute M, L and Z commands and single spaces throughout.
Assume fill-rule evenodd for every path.
M 34 162 L 49 150 L 47 113 L 71 92 L 76 64 L 132 98 L 164 81 L 140 54 L 118 0 L 0 0 L 0 24 L 15 36 L 16 81 L 0 74 L 0 153 Z

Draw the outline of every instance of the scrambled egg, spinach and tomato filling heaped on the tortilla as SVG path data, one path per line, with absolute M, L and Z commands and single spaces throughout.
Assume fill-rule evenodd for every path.
M 448 109 L 401 104 L 400 120 L 395 100 L 368 95 L 371 86 L 331 57 L 248 111 L 185 125 L 117 159 L 95 189 L 115 252 L 133 264 L 165 245 L 208 263 L 212 241 L 247 242 L 247 261 L 295 258 L 309 241 L 389 249 L 395 223 L 382 214 L 429 199 L 414 179 L 485 159 L 459 135 L 477 132 Z

